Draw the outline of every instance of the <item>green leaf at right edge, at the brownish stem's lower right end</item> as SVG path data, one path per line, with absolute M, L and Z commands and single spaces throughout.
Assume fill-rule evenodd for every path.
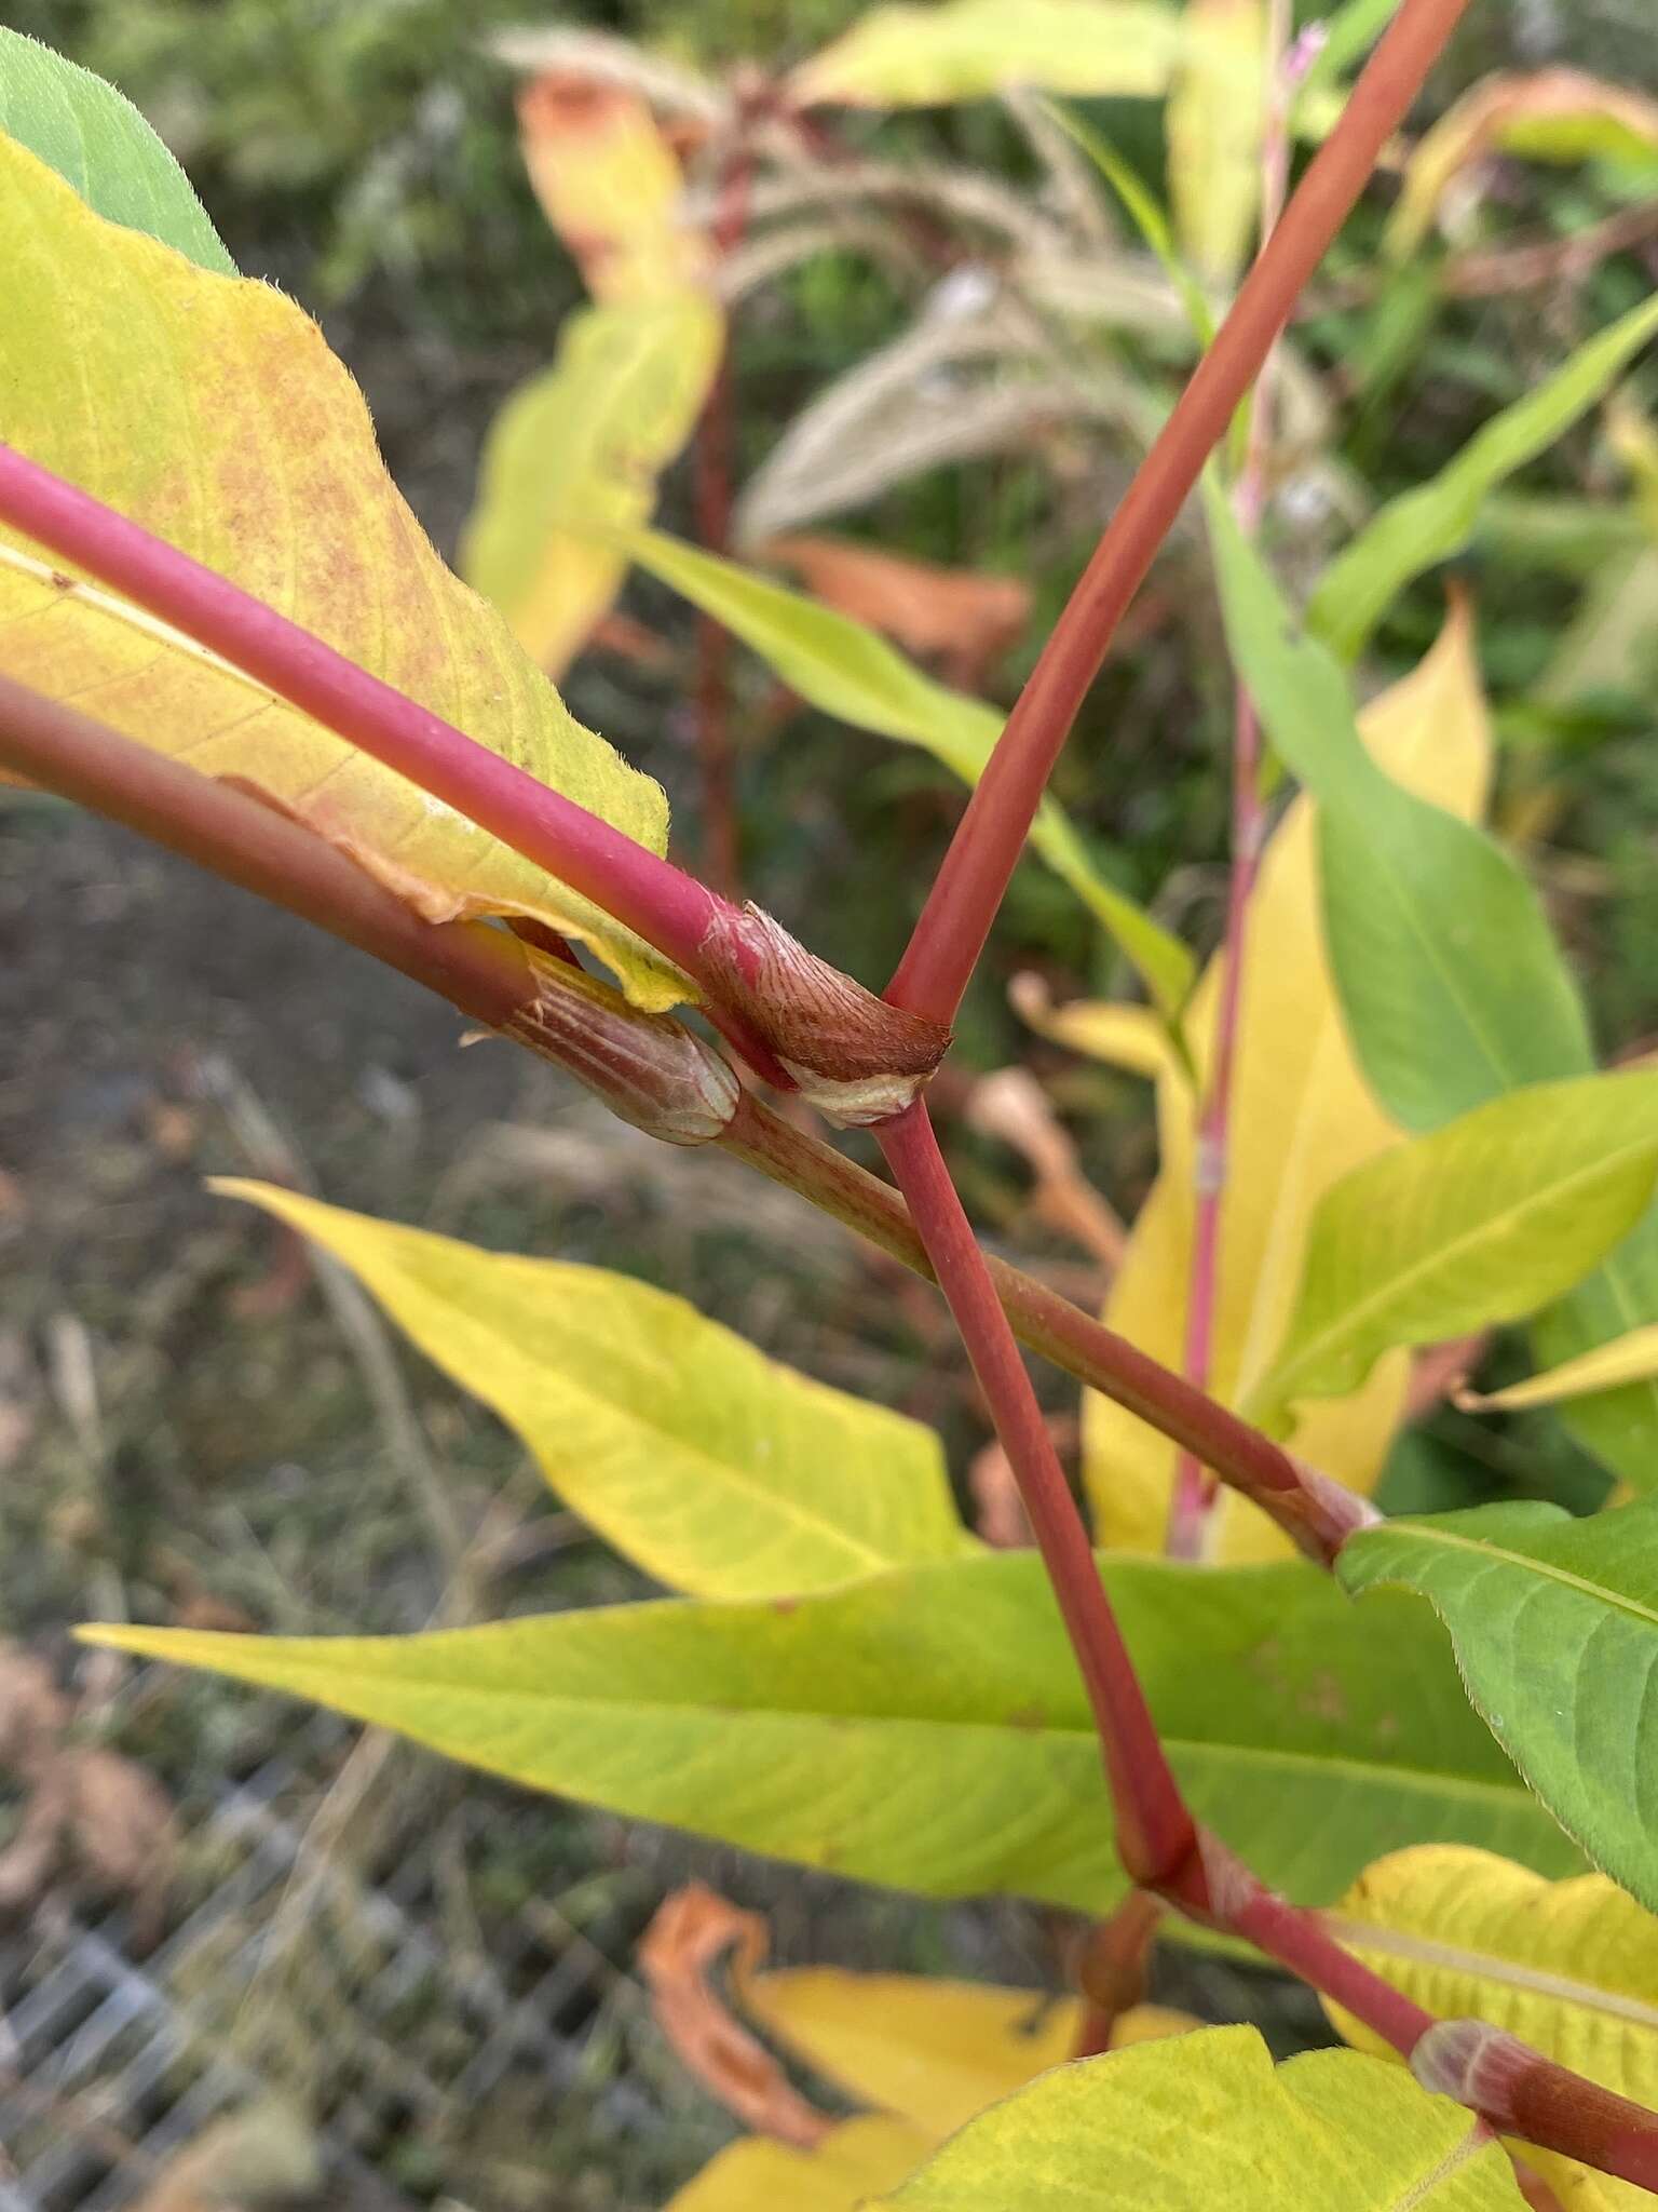
M 1658 1909 L 1658 1502 L 1594 1520 L 1550 1504 L 1388 1522 L 1335 1562 L 1450 1628 L 1468 1694 L 1596 1867 Z

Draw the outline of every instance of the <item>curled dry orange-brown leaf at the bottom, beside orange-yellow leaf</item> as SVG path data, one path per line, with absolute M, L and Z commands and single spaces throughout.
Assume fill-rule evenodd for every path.
M 767 1951 L 758 1913 L 692 1882 L 661 1902 L 639 1944 L 639 1971 L 650 1982 L 657 2026 L 703 2088 L 712 2090 L 756 2135 L 809 2150 L 831 2119 L 789 2081 L 772 2053 L 741 2026 L 716 1993 L 712 1973 L 732 1953 L 732 1984 L 743 1997 Z

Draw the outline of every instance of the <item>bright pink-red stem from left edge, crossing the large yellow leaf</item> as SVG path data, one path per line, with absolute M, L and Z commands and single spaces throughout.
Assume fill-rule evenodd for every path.
M 736 909 L 694 876 L 659 860 L 276 608 L 9 445 L 0 445 L 0 522 L 86 568 L 323 728 L 433 792 L 626 922 L 688 975 L 701 980 L 710 927 L 721 918 L 738 920 Z M 776 1064 L 758 1037 L 749 1035 L 738 1048 L 776 1079 Z

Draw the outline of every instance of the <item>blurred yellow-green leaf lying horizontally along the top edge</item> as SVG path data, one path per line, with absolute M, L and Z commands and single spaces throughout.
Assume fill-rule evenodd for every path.
M 1015 84 L 1043 93 L 1165 91 L 1180 20 L 1156 0 L 935 0 L 878 7 L 802 62 L 802 106 L 933 108 Z

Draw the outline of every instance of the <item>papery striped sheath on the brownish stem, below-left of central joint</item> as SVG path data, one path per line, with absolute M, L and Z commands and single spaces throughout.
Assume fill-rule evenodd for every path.
M 595 1091 L 610 1113 L 663 1144 L 712 1144 L 738 1106 L 721 1055 L 665 1013 L 641 1013 L 621 991 L 526 947 L 533 1000 L 502 1022 Z

